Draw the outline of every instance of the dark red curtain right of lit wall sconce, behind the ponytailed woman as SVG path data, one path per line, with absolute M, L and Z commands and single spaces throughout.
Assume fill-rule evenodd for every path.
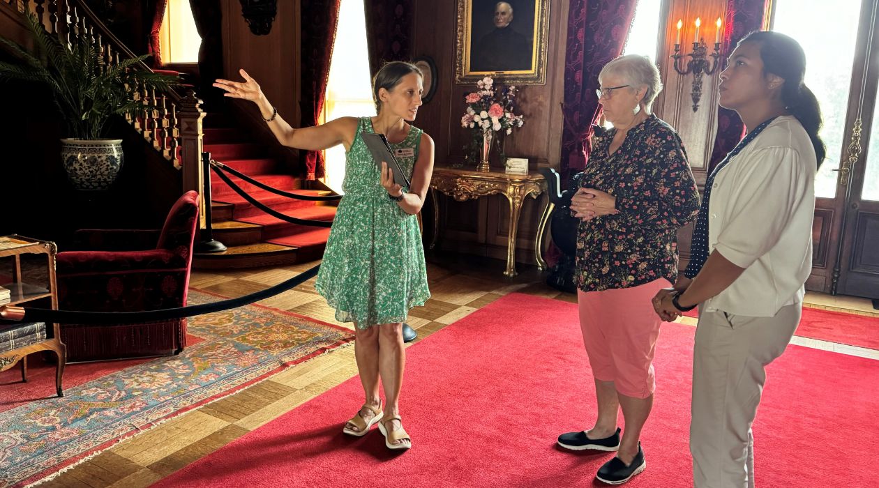
M 723 29 L 723 60 L 732 53 L 736 43 L 749 32 L 759 31 L 763 26 L 769 0 L 727 0 L 726 27 Z M 722 67 L 722 68 L 723 68 Z M 719 73 L 719 71 L 718 71 Z M 729 153 L 745 134 L 745 125 L 735 111 L 717 108 L 717 135 L 708 161 L 708 173 Z

